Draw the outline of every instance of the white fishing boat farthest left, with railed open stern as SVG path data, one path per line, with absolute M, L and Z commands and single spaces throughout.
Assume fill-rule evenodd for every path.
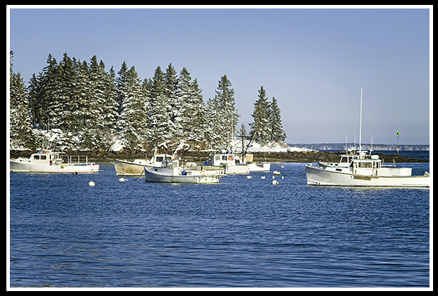
M 81 159 L 85 158 L 85 162 Z M 99 165 L 88 162 L 88 156 L 67 156 L 62 159 L 61 152 L 37 149 L 28 159 L 18 157 L 9 161 L 11 173 L 98 173 Z

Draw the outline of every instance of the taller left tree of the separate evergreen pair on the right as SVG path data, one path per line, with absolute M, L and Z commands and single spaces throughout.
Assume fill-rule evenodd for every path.
M 263 86 L 260 87 L 259 99 L 254 103 L 254 112 L 251 116 L 254 119 L 254 123 L 250 123 L 251 135 L 254 135 L 256 142 L 264 145 L 271 140 L 271 126 L 269 122 L 269 103 Z

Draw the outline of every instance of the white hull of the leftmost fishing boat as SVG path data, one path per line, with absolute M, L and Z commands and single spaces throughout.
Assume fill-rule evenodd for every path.
M 47 166 L 32 164 L 29 161 L 9 161 L 11 173 L 98 173 L 98 164 L 58 164 Z

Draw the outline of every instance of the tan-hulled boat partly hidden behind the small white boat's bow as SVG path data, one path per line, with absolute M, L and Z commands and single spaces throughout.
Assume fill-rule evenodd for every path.
M 173 156 L 174 157 L 174 156 Z M 161 166 L 162 161 L 172 160 L 169 154 L 155 154 L 147 159 L 134 159 L 134 161 L 127 161 L 122 159 L 114 159 L 114 168 L 117 175 L 141 175 L 143 174 L 145 166 L 152 168 L 153 166 Z

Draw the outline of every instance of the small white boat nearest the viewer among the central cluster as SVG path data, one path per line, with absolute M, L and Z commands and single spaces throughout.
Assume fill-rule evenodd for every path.
M 147 182 L 162 183 L 219 183 L 226 174 L 224 168 L 185 167 L 181 159 L 162 161 L 160 167 L 144 168 Z

